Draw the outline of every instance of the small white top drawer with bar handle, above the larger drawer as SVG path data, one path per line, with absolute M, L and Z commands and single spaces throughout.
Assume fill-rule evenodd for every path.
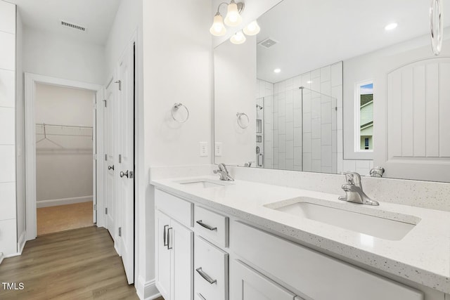
M 195 233 L 205 237 L 210 242 L 217 243 L 221 247 L 229 244 L 229 218 L 204 209 L 194 208 Z

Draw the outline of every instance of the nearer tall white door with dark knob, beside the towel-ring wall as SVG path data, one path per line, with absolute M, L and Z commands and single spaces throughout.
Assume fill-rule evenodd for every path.
M 119 61 L 117 209 L 120 209 L 120 254 L 128 283 L 134 282 L 134 49 Z

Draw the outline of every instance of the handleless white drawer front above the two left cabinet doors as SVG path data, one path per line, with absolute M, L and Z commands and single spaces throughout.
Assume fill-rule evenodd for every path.
M 155 207 L 184 226 L 192 227 L 193 204 L 191 202 L 157 188 L 155 189 Z

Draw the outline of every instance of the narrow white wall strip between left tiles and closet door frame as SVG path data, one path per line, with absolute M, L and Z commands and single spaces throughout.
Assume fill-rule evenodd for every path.
M 25 103 L 23 98 L 23 25 L 17 11 L 16 81 L 15 81 L 15 143 L 17 179 L 17 237 L 25 245 Z

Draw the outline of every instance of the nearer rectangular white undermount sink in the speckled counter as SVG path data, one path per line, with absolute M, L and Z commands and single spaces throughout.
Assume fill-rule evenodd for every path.
M 275 203 L 268 204 L 266 207 L 294 216 L 356 231 L 364 235 L 379 237 L 384 240 L 401 240 L 420 221 L 420 219 L 413 216 L 409 216 L 411 218 L 408 221 L 385 219 L 379 216 L 311 203 L 311 198 L 304 199 L 308 199 L 309 202 L 299 200 L 298 202 L 292 203 L 290 201 L 285 202 L 285 205 L 276 205 Z M 325 200 L 319 201 L 325 202 Z

